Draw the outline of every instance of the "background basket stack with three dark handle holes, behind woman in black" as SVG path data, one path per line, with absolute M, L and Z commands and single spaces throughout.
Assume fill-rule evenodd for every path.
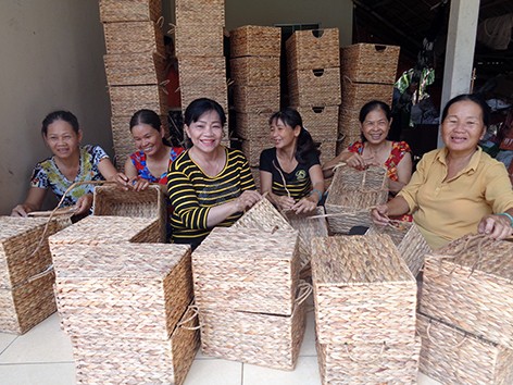
M 290 105 L 321 142 L 321 161 L 335 157 L 340 104 L 338 28 L 297 30 L 286 41 Z

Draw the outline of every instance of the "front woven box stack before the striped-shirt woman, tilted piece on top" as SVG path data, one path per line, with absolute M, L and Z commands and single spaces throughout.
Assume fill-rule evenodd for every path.
M 253 209 L 192 253 L 201 346 L 207 356 L 292 370 L 311 291 L 299 283 L 298 233 L 271 203 Z

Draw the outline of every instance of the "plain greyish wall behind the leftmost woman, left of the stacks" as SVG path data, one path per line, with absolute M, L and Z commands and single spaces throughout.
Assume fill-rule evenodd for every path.
M 50 156 L 40 135 L 47 113 L 72 111 L 84 142 L 113 154 L 98 1 L 2 0 L 0 52 L 0 214 L 9 214 Z

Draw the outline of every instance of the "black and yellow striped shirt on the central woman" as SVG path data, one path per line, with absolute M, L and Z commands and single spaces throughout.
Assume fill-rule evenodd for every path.
M 255 189 L 253 176 L 242 152 L 225 149 L 226 164 L 216 176 L 209 176 L 182 153 L 167 173 L 167 194 L 174 208 L 171 218 L 172 243 L 198 246 L 212 231 L 207 219 L 212 207 L 237 199 L 242 191 Z M 230 226 L 242 212 L 226 218 L 217 226 Z

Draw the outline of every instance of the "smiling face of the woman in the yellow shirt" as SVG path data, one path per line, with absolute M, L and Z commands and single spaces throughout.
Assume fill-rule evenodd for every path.
M 471 100 L 453 103 L 441 123 L 441 136 L 452 152 L 474 152 L 485 135 L 483 110 Z

